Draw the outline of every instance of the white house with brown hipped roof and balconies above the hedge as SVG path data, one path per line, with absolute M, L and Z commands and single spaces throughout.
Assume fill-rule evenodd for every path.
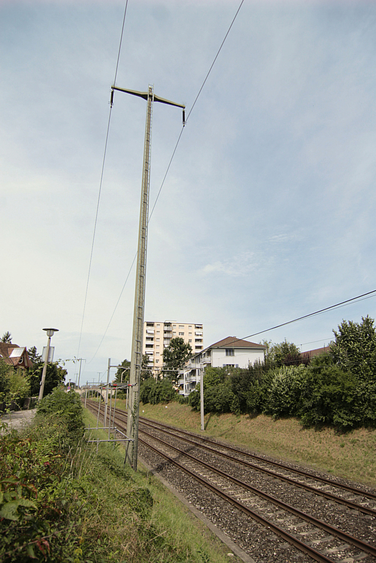
M 210 365 L 213 368 L 248 368 L 249 364 L 264 360 L 265 346 L 248 342 L 236 336 L 227 336 L 194 354 L 182 369 L 178 381 L 181 395 L 189 395 L 200 381 L 202 370 Z

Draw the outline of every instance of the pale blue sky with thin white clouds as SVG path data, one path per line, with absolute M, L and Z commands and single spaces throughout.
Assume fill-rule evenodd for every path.
M 0 332 L 59 329 L 71 379 L 131 354 L 146 103 L 110 112 L 115 73 L 189 116 L 177 144 L 154 103 L 145 320 L 305 351 L 375 318 L 267 331 L 376 289 L 376 3 L 245 0 L 203 86 L 239 5 L 129 0 L 116 73 L 125 2 L 0 0 Z

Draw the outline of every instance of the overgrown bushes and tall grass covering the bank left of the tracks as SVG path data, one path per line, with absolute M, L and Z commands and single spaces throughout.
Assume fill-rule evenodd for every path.
M 55 390 L 32 428 L 0 436 L 0 561 L 200 563 L 202 546 L 155 517 L 146 479 L 83 432 L 78 394 Z

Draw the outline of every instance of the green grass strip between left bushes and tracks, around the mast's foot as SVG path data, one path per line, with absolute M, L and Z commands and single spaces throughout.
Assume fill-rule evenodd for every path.
M 85 418 L 87 426 L 96 425 L 96 417 L 87 411 Z M 104 431 L 92 431 L 92 434 L 93 437 L 107 437 Z M 100 445 L 99 455 L 102 450 L 108 455 L 109 449 L 114 456 L 114 465 L 119 466 L 120 463 L 122 466 L 123 446 Z M 126 471 L 129 472 L 131 481 L 125 484 L 121 477 L 117 479 L 116 476 L 111 476 L 110 472 L 104 472 L 102 477 L 104 485 L 102 503 L 110 506 L 110 511 L 105 512 L 106 535 L 113 546 L 111 549 L 118 552 L 118 561 L 228 563 L 229 549 L 152 473 L 142 464 L 139 464 L 136 473 L 127 467 Z M 130 522 L 129 514 L 124 515 L 124 512 L 127 511 L 129 494 L 134 494 L 132 491 L 139 491 L 136 501 L 142 491 L 146 501 L 152 499 L 152 503 L 150 505 L 146 503 L 145 512 L 141 510 L 144 502 L 136 502 L 133 520 L 131 519 Z M 149 512 L 147 512 L 148 506 Z M 151 549 L 150 543 L 154 544 L 155 549 Z M 239 561 L 239 559 L 231 554 L 231 561 Z

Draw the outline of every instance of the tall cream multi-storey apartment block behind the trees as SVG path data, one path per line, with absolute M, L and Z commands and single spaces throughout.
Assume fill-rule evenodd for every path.
M 163 350 L 171 338 L 180 337 L 191 345 L 193 354 L 204 348 L 204 328 L 200 323 L 177 323 L 176 321 L 145 321 L 142 354 L 149 356 L 153 373 L 163 367 Z

